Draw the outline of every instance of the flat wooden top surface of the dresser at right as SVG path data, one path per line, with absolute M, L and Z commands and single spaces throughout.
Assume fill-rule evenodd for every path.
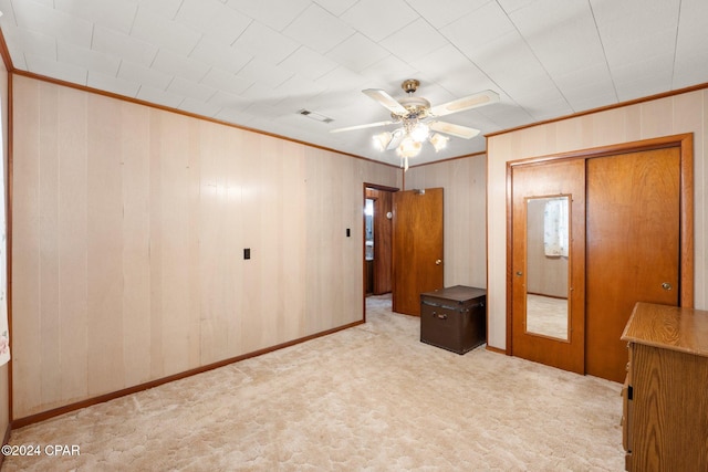
M 622 340 L 708 357 L 708 312 L 637 303 Z

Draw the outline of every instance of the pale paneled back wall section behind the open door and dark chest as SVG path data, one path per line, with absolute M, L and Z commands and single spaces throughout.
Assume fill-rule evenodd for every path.
M 486 156 L 446 160 L 406 172 L 405 190 L 442 187 L 445 285 L 487 286 Z

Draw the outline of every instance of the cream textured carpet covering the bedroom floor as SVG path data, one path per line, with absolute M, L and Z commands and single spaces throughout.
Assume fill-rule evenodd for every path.
M 12 432 L 2 470 L 622 471 L 621 385 L 367 323 Z

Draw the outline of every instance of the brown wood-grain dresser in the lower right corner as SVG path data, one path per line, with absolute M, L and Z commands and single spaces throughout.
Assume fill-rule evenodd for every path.
M 708 471 L 708 312 L 637 303 L 622 339 L 627 471 Z

